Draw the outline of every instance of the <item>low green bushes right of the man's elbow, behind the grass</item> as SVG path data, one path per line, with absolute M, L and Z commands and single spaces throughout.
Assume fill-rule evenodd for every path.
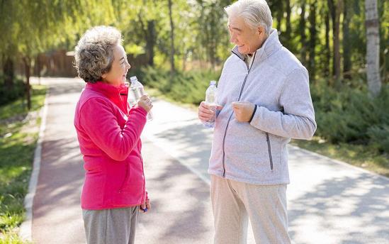
M 311 87 L 317 135 L 331 143 L 370 145 L 389 153 L 389 87 L 372 99 L 365 88 L 335 90 L 323 83 Z

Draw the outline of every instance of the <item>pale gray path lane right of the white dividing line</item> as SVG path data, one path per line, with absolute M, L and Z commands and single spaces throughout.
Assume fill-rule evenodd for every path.
M 145 135 L 205 182 L 212 131 L 196 112 L 154 102 Z M 169 116 L 167 116 L 169 115 Z M 389 179 L 289 147 L 289 233 L 294 243 L 389 243 Z M 249 235 L 249 243 L 254 243 Z

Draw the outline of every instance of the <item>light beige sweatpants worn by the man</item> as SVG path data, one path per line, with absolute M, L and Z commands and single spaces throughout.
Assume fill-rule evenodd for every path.
M 249 219 L 256 243 L 290 244 L 286 184 L 256 185 L 211 175 L 215 244 L 247 243 Z

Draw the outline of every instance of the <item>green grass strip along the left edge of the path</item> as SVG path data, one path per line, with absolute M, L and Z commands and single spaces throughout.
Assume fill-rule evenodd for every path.
M 33 86 L 31 111 L 43 106 L 45 93 L 45 87 Z M 23 121 L 28 111 L 21 99 L 1 106 L 0 114 L 0 243 L 22 243 L 16 229 L 25 214 L 23 201 L 28 192 L 40 118 L 33 116 L 33 121 Z

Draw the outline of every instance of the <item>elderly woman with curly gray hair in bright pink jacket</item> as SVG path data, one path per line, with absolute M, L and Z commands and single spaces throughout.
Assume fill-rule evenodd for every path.
M 140 134 L 152 109 L 144 95 L 129 108 L 125 77 L 130 69 L 120 32 L 108 26 L 87 30 L 75 50 L 86 87 L 74 126 L 84 156 L 81 193 L 88 243 L 134 243 L 138 209 L 150 209 L 140 153 Z

